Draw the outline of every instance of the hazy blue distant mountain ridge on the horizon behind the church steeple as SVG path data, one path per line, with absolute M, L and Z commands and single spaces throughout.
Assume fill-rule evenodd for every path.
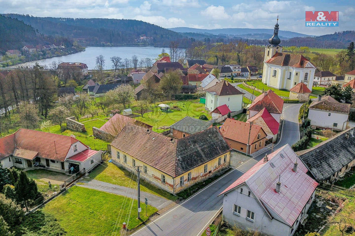
M 169 28 L 175 32 L 179 33 L 205 33 L 205 34 L 213 34 L 213 35 L 233 35 L 237 38 L 250 38 L 253 35 L 256 35 L 255 39 L 266 39 L 266 35 L 272 35 L 274 33 L 274 29 L 249 29 L 249 28 L 225 28 L 225 29 L 196 29 L 189 27 L 175 27 Z M 260 37 L 263 35 L 262 37 Z M 287 30 L 279 30 L 279 36 L 282 38 L 294 38 L 294 37 L 307 37 L 311 35 L 300 34 Z

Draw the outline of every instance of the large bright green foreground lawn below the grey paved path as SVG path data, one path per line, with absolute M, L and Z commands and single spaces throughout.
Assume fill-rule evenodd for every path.
M 120 221 L 117 223 L 118 235 L 121 235 L 122 223 L 127 223 L 126 213 L 130 212 L 132 204 L 130 198 L 127 202 L 126 199 L 123 196 L 107 192 L 73 186 L 64 194 L 47 203 L 43 211 L 50 213 L 57 219 L 60 226 L 67 232 L 66 236 L 108 236 L 114 231 L 116 219 L 120 215 L 123 204 L 123 217 L 121 220 L 119 218 Z M 145 214 L 145 206 L 143 209 L 141 220 L 138 220 L 137 201 L 133 201 L 131 216 L 127 224 L 128 229 L 133 229 L 148 219 Z M 152 206 L 147 208 L 148 215 L 156 211 L 157 209 Z

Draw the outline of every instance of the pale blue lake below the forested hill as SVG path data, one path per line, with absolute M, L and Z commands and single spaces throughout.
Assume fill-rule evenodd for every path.
M 163 47 L 87 47 L 83 52 L 26 62 L 13 65 L 12 67 L 33 67 L 36 62 L 42 66 L 49 67 L 49 64 L 53 61 L 60 61 L 85 63 L 89 70 L 91 70 L 96 66 L 96 57 L 103 55 L 105 58 L 104 69 L 111 69 L 112 63 L 110 57 L 118 56 L 121 57 L 123 61 L 125 58 L 131 59 L 133 55 L 136 55 L 138 59 L 149 57 L 154 60 L 159 54 L 162 53 L 162 49 Z M 169 48 L 164 48 L 164 50 L 165 52 L 169 52 Z

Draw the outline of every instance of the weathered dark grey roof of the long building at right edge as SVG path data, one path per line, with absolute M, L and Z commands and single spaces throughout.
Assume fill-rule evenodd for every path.
M 355 134 L 347 129 L 296 154 L 317 181 L 324 181 L 355 159 Z M 349 138 L 347 138 L 349 137 Z

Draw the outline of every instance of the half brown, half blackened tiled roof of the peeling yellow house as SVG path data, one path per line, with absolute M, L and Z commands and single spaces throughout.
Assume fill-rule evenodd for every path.
M 216 127 L 173 140 L 171 142 L 167 136 L 127 123 L 111 145 L 171 177 L 230 151 Z

